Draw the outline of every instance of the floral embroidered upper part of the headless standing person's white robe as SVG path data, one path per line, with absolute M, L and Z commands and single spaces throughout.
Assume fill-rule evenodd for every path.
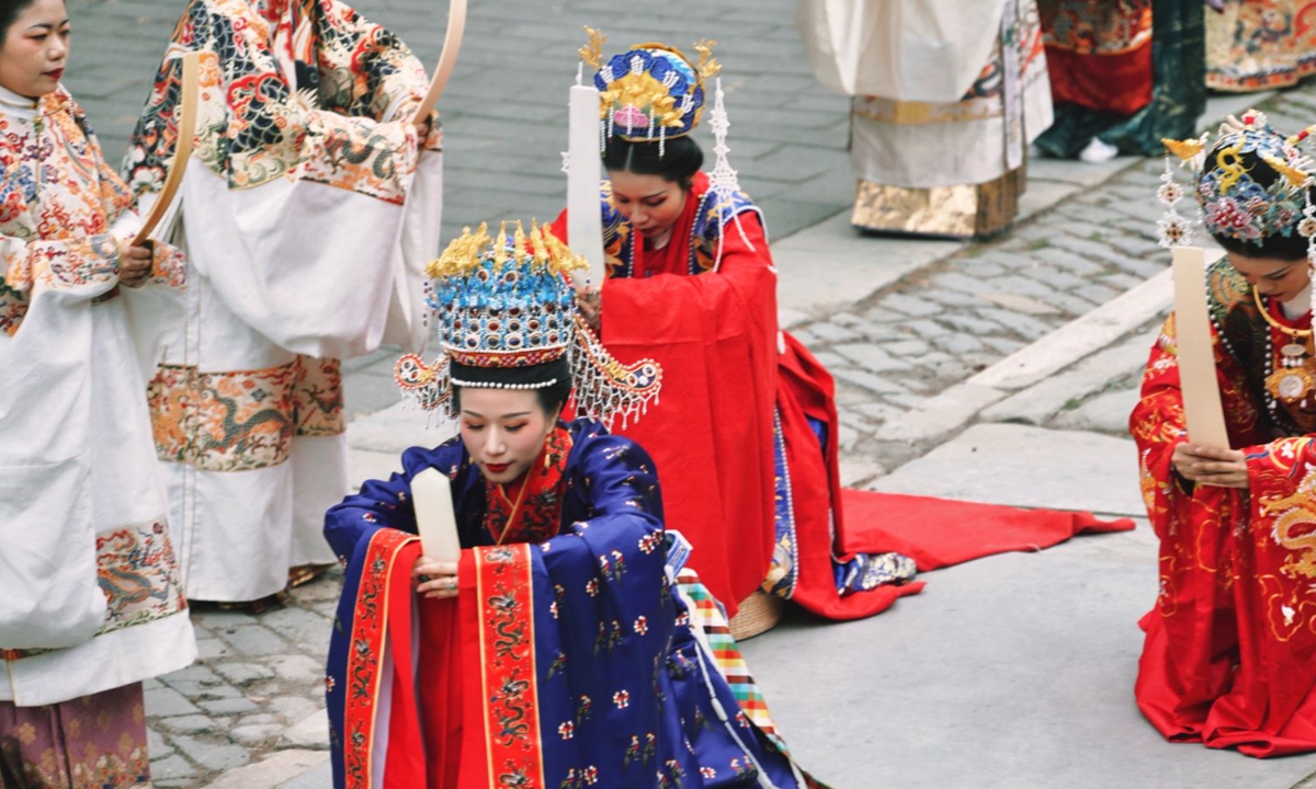
M 401 203 L 417 146 L 405 118 L 428 85 L 425 68 L 388 30 L 336 0 L 268 4 L 207 0 L 188 5 L 175 49 L 203 53 L 201 162 L 245 189 L 299 178 Z M 296 58 L 296 85 L 275 53 Z M 133 133 L 126 168 L 138 193 L 158 191 L 178 141 L 182 68 L 161 66 Z M 421 147 L 438 150 L 434 124 Z

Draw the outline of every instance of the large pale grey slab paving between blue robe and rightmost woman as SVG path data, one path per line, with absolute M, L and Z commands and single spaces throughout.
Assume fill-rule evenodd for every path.
M 833 786 L 1290 789 L 1316 755 L 1170 744 L 1138 713 L 1155 559 L 1140 523 L 925 573 L 871 619 L 794 613 L 742 648 L 791 752 Z

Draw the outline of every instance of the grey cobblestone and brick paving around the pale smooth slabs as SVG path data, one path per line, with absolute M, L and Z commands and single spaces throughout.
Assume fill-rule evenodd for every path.
M 183 3 L 68 1 L 76 49 L 67 82 L 116 158 Z M 616 45 L 720 39 L 733 156 L 775 237 L 849 205 L 845 100 L 813 85 L 792 26 L 794 0 L 669 0 L 661 12 L 622 0 L 471 5 L 467 43 L 443 103 L 445 238 L 462 224 L 542 218 L 561 208 L 565 87 L 583 24 L 601 25 Z M 442 12 L 429 0 L 358 7 L 433 62 Z M 1316 118 L 1313 95 L 1307 85 L 1266 109 L 1282 129 L 1296 130 Z M 1001 238 L 795 326 L 838 381 L 846 481 L 871 483 L 930 448 L 934 438 L 900 429 L 920 401 L 1162 271 L 1166 256 L 1154 238 L 1161 170 L 1159 162 L 1137 163 Z M 396 402 L 379 380 L 391 362 L 365 358 L 345 367 L 350 412 Z M 1117 434 L 1134 383 L 1129 368 L 1034 421 Z M 147 684 L 157 785 L 204 786 L 274 750 L 326 747 L 322 664 L 340 585 L 341 576 L 330 573 L 259 615 L 193 614 L 201 659 Z

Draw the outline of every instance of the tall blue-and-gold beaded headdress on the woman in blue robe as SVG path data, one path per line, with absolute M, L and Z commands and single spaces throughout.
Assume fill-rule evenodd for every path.
M 513 227 L 504 224 L 497 238 L 486 225 L 467 227 L 429 264 L 443 352 L 430 364 L 399 359 L 397 385 L 422 409 L 455 417 L 454 385 L 540 389 L 570 377 L 576 413 L 625 425 L 658 397 L 662 368 L 613 359 L 576 316 L 570 274 L 584 260 L 547 226 Z

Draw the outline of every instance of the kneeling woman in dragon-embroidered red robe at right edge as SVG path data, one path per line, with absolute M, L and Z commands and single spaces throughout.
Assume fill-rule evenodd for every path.
M 1198 141 L 1174 146 L 1204 156 L 1195 193 L 1228 252 L 1207 289 L 1237 448 L 1187 438 L 1173 316 L 1129 425 L 1161 538 L 1161 590 L 1140 623 L 1138 706 L 1171 742 L 1249 756 L 1316 750 L 1316 220 L 1303 218 L 1312 167 L 1298 142 L 1252 113 L 1204 154 Z M 1161 195 L 1173 205 L 1182 191 L 1167 183 Z

